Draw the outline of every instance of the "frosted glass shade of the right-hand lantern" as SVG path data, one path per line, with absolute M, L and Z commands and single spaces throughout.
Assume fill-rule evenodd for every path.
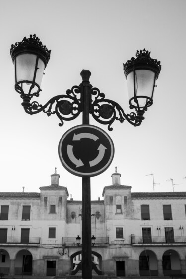
M 127 75 L 130 105 L 144 108 L 147 102 L 153 98 L 155 81 L 156 74 L 151 70 L 139 69 L 130 72 Z

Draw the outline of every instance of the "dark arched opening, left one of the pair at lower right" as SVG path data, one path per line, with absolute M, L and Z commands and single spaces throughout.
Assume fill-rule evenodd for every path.
M 140 276 L 158 276 L 158 262 L 153 251 L 145 250 L 140 254 L 139 274 Z

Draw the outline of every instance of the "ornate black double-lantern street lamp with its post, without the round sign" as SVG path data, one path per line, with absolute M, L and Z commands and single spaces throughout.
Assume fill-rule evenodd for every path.
M 152 59 L 150 52 L 137 51 L 136 58 L 131 58 L 124 64 L 127 79 L 129 105 L 135 112 L 126 114 L 115 101 L 105 98 L 96 87 L 89 82 L 91 72 L 82 70 L 82 82 L 66 91 L 66 95 L 51 98 L 45 105 L 32 101 L 41 91 L 41 81 L 44 69 L 50 59 L 50 52 L 40 42 L 36 35 L 15 43 L 10 54 L 15 67 L 15 90 L 23 99 L 22 106 L 28 114 L 41 111 L 48 116 L 56 114 L 60 119 L 73 120 L 82 112 L 82 124 L 89 125 L 89 114 L 101 123 L 108 125 L 112 131 L 112 123 L 127 120 L 134 126 L 139 126 L 144 119 L 144 113 L 153 104 L 155 82 L 161 70 L 160 61 Z M 109 167 L 109 165 L 107 166 Z M 81 176 L 81 175 L 79 175 Z M 92 278 L 91 266 L 91 208 L 90 208 L 90 176 L 82 176 L 82 278 Z

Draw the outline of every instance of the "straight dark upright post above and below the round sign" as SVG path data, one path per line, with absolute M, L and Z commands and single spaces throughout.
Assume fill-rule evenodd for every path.
M 89 124 L 90 78 L 89 70 L 82 70 L 83 124 Z M 92 278 L 91 259 L 91 191 L 90 177 L 82 177 L 82 278 Z

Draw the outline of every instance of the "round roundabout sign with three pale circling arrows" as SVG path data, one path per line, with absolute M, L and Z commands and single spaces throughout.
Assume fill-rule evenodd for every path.
M 96 176 L 104 172 L 114 157 L 109 135 L 93 125 L 78 125 L 64 133 L 59 142 L 63 167 L 77 176 Z

